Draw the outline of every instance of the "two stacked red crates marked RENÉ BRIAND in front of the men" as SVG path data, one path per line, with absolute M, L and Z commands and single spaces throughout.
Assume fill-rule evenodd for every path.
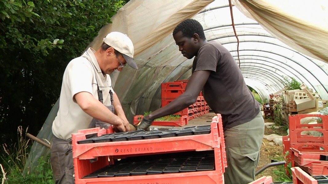
M 190 184 L 222 184 L 225 155 L 223 152 L 224 138 L 221 133 L 222 120 L 214 117 L 211 122 L 211 133 L 193 136 L 180 136 L 171 138 L 155 138 L 131 141 L 100 142 L 78 144 L 78 141 L 86 139 L 86 135 L 96 133 L 98 136 L 106 134 L 106 130 L 100 128 L 79 130 L 72 134 L 73 159 L 76 184 L 136 184 L 136 183 L 190 183 Z M 158 143 L 160 142 L 160 144 Z M 140 149 L 139 149 L 140 148 Z M 83 178 L 92 172 L 109 164 L 108 161 L 129 156 L 153 155 L 160 153 L 175 153 L 183 151 L 214 150 L 215 170 L 198 171 L 189 173 L 141 175 L 122 177 L 98 177 Z M 97 158 L 92 162 L 90 159 Z

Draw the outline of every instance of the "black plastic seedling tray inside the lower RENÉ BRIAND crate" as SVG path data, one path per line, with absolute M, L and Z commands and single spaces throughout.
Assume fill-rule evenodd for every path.
M 156 156 L 138 156 L 137 158 L 130 157 L 115 161 L 115 164 L 101 168 L 83 178 L 211 171 L 215 170 L 215 159 L 214 157 L 207 157 L 210 155 L 197 155 L 196 152 L 192 152 L 192 154 L 187 152 L 184 154 L 172 153 Z M 135 162 L 135 160 L 138 161 Z

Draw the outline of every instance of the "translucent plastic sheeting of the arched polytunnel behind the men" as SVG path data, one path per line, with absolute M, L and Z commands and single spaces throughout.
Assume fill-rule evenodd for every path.
M 231 52 L 246 84 L 262 100 L 284 87 L 284 76 L 305 83 L 328 100 L 327 1 L 235 0 L 232 4 L 131 0 L 113 16 L 112 24 L 99 30 L 89 47 L 98 49 L 111 31 L 123 32 L 133 42 L 139 69 L 127 66 L 111 75 L 130 122 L 134 115 L 161 106 L 161 83 L 190 77 L 192 60 L 182 56 L 172 36 L 176 25 L 187 18 L 202 24 L 208 41 L 219 42 Z

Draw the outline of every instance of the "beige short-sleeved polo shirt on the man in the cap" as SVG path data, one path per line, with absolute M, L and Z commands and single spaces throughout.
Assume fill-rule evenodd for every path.
M 52 133 L 57 138 L 68 140 L 78 130 L 89 128 L 92 117 L 85 113 L 76 101 L 73 101 L 75 94 L 86 91 L 98 100 L 98 83 L 103 93 L 104 105 L 111 105 L 109 91 L 113 91 L 112 81 L 109 75 L 101 73 L 94 52 L 95 50 L 89 48 L 81 57 L 73 59 L 65 69 L 59 110 L 52 123 Z

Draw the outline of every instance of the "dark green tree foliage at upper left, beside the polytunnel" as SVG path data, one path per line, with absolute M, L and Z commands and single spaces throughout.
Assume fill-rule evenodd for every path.
M 125 4 L 120 0 L 0 1 L 1 134 L 36 134 L 58 99 L 64 69 Z M 2 138 L 1 141 L 6 141 Z

